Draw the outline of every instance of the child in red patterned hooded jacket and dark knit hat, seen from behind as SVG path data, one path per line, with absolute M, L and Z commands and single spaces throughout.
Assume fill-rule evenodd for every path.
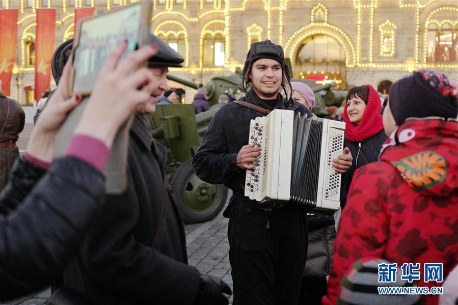
M 447 76 L 426 70 L 391 86 L 383 116 L 391 136 L 380 161 L 355 173 L 323 304 L 335 304 L 345 293 L 342 275 L 364 257 L 397 267 L 420 263 L 421 280 L 414 284 L 429 288 L 442 283 L 425 283 L 425 263 L 442 263 L 443 279 L 458 263 L 457 92 Z M 437 295 L 421 297 L 426 304 L 438 302 Z

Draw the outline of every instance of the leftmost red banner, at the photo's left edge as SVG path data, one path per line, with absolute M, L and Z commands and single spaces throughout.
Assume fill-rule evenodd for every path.
M 0 91 L 10 95 L 11 74 L 13 72 L 14 54 L 17 44 L 18 10 L 0 9 Z

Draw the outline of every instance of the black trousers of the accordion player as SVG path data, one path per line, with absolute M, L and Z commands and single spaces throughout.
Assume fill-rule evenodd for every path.
M 228 237 L 234 305 L 298 303 L 307 254 L 305 213 L 231 199 Z

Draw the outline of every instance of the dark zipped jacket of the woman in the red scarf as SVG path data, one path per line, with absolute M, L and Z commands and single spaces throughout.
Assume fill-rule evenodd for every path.
M 375 133 L 371 137 L 364 139 L 362 142 L 352 142 L 345 139 L 343 147 L 348 147 L 353 156 L 352 166 L 348 171 L 342 175 L 342 182 L 340 188 L 340 205 L 345 206 L 348 189 L 353 179 L 355 171 L 371 162 L 379 159 L 382 144 L 387 140 L 388 136 L 385 130 Z

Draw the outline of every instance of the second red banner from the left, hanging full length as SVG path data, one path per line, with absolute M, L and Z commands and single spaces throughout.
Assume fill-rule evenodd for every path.
M 51 59 L 54 52 L 56 10 L 37 9 L 37 36 L 35 40 L 35 100 L 49 89 Z

